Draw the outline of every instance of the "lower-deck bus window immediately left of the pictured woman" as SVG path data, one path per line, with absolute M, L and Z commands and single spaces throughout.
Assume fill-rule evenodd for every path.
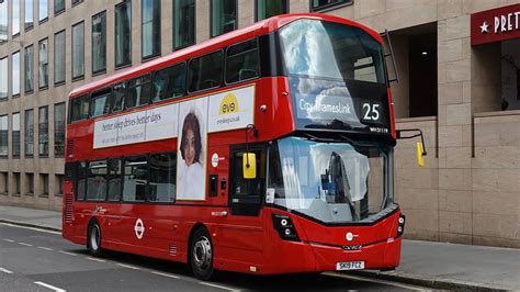
M 176 201 L 177 155 L 176 153 L 152 154 L 149 156 L 148 201 Z

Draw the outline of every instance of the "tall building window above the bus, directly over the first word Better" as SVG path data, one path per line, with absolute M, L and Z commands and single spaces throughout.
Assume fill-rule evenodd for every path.
M 115 5 L 115 67 L 132 63 L 132 2 Z

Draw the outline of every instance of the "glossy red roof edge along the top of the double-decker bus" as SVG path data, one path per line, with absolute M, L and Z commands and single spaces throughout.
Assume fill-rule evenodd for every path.
M 239 30 L 210 38 L 207 41 L 189 46 L 186 48 L 176 50 L 166 56 L 155 58 L 150 61 L 140 64 L 136 67 L 132 67 L 126 70 L 122 70 L 121 72 L 108 76 L 103 79 L 89 82 L 84 86 L 74 89 L 70 92 L 70 98 L 72 99 L 72 98 L 80 97 L 90 92 L 94 92 L 105 87 L 122 82 L 124 80 L 138 77 L 143 74 L 174 65 L 184 59 L 202 56 L 215 49 L 226 47 L 228 45 L 237 44 L 237 43 L 240 43 L 242 41 L 246 41 L 259 35 L 274 32 L 279 30 L 280 27 L 286 25 L 287 23 L 291 23 L 299 19 L 324 20 L 324 21 L 337 22 L 337 23 L 342 23 L 350 26 L 360 27 L 366 33 L 369 33 L 372 37 L 374 37 L 378 43 L 383 43 L 383 40 L 381 38 L 377 32 L 360 23 L 353 22 L 351 20 L 347 20 L 347 19 L 334 16 L 334 15 L 328 15 L 328 14 L 320 14 L 320 13 L 282 14 L 282 15 L 272 16 L 267 20 L 259 21 L 247 27 L 239 29 Z

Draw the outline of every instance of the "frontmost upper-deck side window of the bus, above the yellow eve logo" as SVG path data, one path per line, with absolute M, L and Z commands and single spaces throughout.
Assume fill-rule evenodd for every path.
M 226 83 L 253 79 L 260 75 L 257 40 L 228 47 L 226 58 Z

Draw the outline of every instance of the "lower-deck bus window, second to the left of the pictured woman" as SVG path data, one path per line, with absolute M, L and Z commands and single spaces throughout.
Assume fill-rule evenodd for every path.
M 145 202 L 148 186 L 146 156 L 126 157 L 124 160 L 123 201 Z

